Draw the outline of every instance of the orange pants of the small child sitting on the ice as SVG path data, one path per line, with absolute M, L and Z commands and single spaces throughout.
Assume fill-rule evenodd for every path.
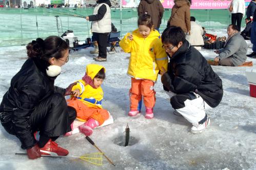
M 105 109 L 89 108 L 83 101 L 77 98 L 70 98 L 67 104 L 76 110 L 77 118 L 82 120 L 89 120 L 93 118 L 99 121 L 100 125 L 109 118 L 109 113 Z

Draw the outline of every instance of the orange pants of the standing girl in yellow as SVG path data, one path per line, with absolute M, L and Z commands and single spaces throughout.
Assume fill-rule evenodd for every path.
M 154 82 L 152 80 L 137 80 L 131 78 L 130 110 L 137 110 L 139 102 L 142 100 L 145 107 L 153 108 L 155 104 Z

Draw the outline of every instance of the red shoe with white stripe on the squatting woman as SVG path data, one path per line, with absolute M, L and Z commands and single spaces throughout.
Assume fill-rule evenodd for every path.
M 68 150 L 58 146 L 58 144 L 51 139 L 45 144 L 44 147 L 40 148 L 41 155 L 58 155 L 67 156 Z

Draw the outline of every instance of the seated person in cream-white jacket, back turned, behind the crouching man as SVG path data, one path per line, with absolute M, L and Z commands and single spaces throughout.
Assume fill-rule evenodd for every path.
M 186 39 L 190 42 L 192 46 L 194 46 L 194 48 L 201 50 L 201 47 L 204 46 L 204 30 L 202 26 L 195 23 L 195 17 L 193 16 L 190 16 L 190 25 L 190 35 L 187 35 Z

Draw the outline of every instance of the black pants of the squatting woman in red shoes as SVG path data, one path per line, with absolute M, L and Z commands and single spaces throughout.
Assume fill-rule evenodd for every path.
M 33 132 L 40 131 L 38 145 L 43 147 L 49 139 L 53 141 L 71 131 L 70 124 L 76 111 L 68 107 L 63 94 L 54 93 L 38 104 L 30 116 Z

